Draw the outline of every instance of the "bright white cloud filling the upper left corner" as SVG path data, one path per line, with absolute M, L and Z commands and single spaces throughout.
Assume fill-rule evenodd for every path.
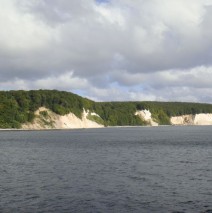
M 0 45 L 5 51 L 19 55 L 23 51 L 45 48 L 54 35 L 30 13 L 23 13 L 16 7 L 16 1 L 2 0 L 0 3 Z

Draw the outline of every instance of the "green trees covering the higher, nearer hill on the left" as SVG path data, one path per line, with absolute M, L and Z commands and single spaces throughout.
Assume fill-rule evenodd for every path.
M 34 112 L 42 106 L 60 115 L 73 112 L 81 117 L 83 107 L 92 104 L 86 98 L 57 90 L 1 91 L 0 128 L 20 128 L 21 124 L 31 122 Z

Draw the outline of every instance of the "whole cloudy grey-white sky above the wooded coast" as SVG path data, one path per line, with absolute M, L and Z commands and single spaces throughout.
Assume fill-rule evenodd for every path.
M 0 90 L 212 103 L 212 0 L 1 0 Z

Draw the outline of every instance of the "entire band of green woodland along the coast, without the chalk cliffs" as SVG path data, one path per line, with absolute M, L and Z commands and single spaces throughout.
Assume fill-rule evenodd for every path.
M 171 116 L 212 113 L 211 104 L 181 102 L 94 102 L 70 92 L 57 90 L 1 91 L 0 128 L 20 128 L 31 122 L 41 106 L 65 115 L 74 113 L 79 118 L 83 108 L 96 112 L 105 126 L 146 125 L 136 110 L 149 109 L 159 124 L 170 124 Z

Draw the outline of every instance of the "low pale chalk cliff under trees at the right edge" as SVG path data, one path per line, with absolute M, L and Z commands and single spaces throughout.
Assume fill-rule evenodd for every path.
M 170 121 L 172 125 L 212 125 L 212 114 L 175 116 Z

